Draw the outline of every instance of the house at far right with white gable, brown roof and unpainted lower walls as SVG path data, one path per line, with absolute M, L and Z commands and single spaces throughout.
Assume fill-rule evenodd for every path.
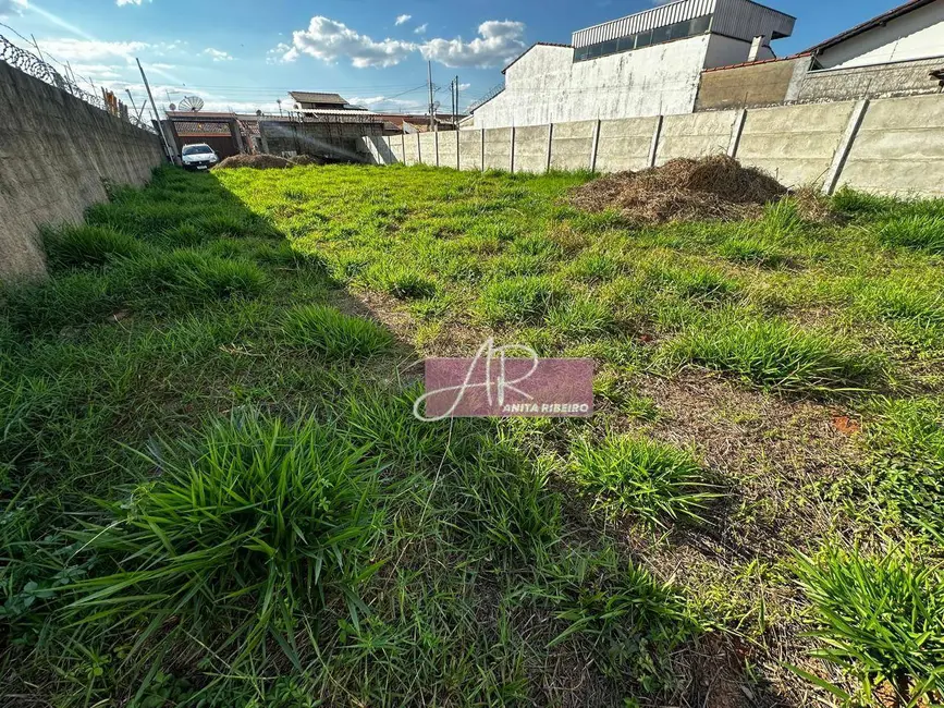
M 942 70 L 944 0 L 911 0 L 798 54 L 703 72 L 696 110 L 932 94 Z

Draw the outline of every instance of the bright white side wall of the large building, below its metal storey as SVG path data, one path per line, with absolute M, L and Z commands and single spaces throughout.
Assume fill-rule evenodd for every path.
M 592 119 L 690 113 L 713 35 L 590 61 L 568 47 L 537 45 L 505 73 L 505 90 L 475 111 L 475 126 L 508 127 Z M 744 47 L 744 61 L 750 49 Z

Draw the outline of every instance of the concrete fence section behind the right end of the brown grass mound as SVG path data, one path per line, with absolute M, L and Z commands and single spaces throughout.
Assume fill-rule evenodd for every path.
M 846 101 L 748 111 L 737 158 L 787 186 L 822 184 L 854 107 Z

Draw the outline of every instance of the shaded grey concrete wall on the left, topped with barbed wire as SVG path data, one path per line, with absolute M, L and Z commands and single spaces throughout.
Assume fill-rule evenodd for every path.
M 140 185 L 160 138 L 0 61 L 0 278 L 46 271 L 38 230 L 78 222 L 102 180 Z

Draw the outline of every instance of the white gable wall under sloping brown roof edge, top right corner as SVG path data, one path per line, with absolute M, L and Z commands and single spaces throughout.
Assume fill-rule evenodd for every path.
M 940 56 L 944 56 L 944 0 L 851 37 L 817 59 L 824 69 L 845 69 Z

